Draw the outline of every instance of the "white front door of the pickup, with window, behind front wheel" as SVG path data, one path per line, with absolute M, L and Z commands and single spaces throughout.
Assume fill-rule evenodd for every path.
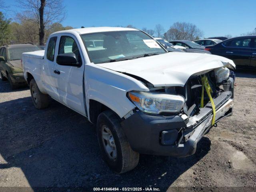
M 82 59 L 81 48 L 76 37 L 71 34 L 60 36 L 58 42 L 58 54 L 73 52 L 76 54 L 78 62 L 82 64 L 80 67 L 55 64 L 54 71 L 58 74 L 58 78 L 56 78 L 58 100 L 76 112 L 85 115 L 83 95 L 85 62 Z

